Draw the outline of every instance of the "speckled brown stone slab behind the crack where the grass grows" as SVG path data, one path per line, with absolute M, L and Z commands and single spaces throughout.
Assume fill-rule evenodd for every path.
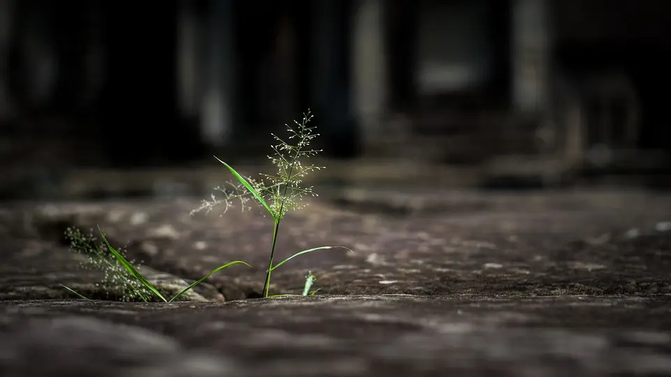
M 664 226 L 671 219 L 670 195 L 398 191 L 361 200 L 384 195 L 393 195 L 395 206 L 423 198 L 426 208 L 370 212 L 315 200 L 287 214 L 276 260 L 316 246 L 354 252 L 330 249 L 291 260 L 273 272 L 273 292 L 301 293 L 311 271 L 315 288 L 330 294 L 671 293 L 671 232 Z M 447 209 L 438 211 L 441 201 Z M 258 296 L 272 220 L 260 211 L 189 215 L 196 207 L 197 200 L 187 199 L 8 206 L 0 211 L 0 235 L 7 239 L 0 251 L 11 261 L 2 267 L 4 297 L 64 298 L 66 292 L 45 289 L 91 281 L 73 269 L 62 242 L 66 226 L 101 226 L 130 258 L 183 281 L 245 260 L 252 268 L 234 265 L 211 276 L 208 283 L 217 292 L 211 294 L 226 300 Z

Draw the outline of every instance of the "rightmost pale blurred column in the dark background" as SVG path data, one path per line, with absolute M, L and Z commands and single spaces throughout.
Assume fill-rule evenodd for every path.
M 547 0 L 512 1 L 512 98 L 517 110 L 549 105 L 550 26 Z

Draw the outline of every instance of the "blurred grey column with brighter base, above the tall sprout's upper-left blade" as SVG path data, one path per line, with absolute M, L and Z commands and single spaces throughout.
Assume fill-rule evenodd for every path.
M 205 143 L 219 147 L 229 142 L 233 131 L 233 90 L 236 87 L 233 0 L 210 0 L 207 17 L 201 135 Z

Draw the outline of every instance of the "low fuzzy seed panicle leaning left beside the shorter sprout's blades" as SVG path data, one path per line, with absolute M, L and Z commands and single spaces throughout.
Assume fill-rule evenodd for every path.
M 105 288 L 107 295 L 110 291 L 121 288 L 122 301 L 150 300 L 152 297 L 150 290 L 117 261 L 104 242 L 96 244 L 97 239 L 92 231 L 85 235 L 78 228 L 68 227 L 65 237 L 70 240 L 70 250 L 85 257 L 80 263 L 82 269 L 97 269 L 103 272 L 103 279 L 99 285 Z M 123 250 L 119 251 L 124 253 Z M 134 261 L 131 263 L 135 264 Z

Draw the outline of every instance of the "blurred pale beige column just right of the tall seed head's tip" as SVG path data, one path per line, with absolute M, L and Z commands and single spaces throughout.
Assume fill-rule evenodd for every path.
M 354 109 L 363 128 L 363 142 L 378 138 L 387 110 L 387 73 L 382 0 L 355 0 L 352 20 Z

